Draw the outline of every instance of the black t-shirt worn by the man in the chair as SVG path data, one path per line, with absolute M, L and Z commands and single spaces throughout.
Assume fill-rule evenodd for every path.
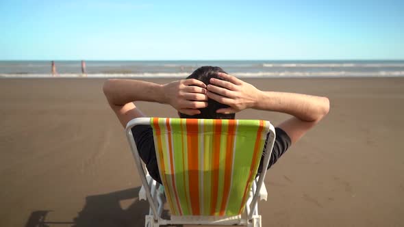
M 268 169 L 271 165 L 275 164 L 279 157 L 283 155 L 286 150 L 288 150 L 291 142 L 290 137 L 280 128 L 275 128 L 276 138 L 275 144 L 273 146 L 272 154 L 270 155 Z M 154 140 L 153 140 L 153 129 L 150 125 L 136 125 L 132 128 L 132 134 L 136 142 L 136 147 L 140 158 L 146 164 L 147 171 L 149 171 L 150 176 L 155 179 L 158 183 L 162 183 L 160 179 L 160 174 L 158 171 L 157 158 L 155 156 Z M 268 141 L 268 135 L 266 136 Z M 266 143 L 264 146 L 264 150 Z M 260 161 L 260 166 L 258 167 L 258 174 L 262 172 L 262 161 L 264 160 L 264 153 Z

